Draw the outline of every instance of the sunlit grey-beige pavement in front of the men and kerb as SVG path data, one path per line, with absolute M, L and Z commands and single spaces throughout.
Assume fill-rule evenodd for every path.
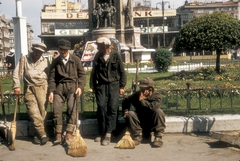
M 71 157 L 61 145 L 35 145 L 30 138 L 18 137 L 15 151 L 9 151 L 5 145 L 0 146 L 1 161 L 239 161 L 240 149 L 217 140 L 208 135 L 173 133 L 165 134 L 161 148 L 151 148 L 149 140 L 143 140 L 135 149 L 114 148 L 118 139 L 113 138 L 108 146 L 101 146 L 93 141 L 95 136 L 83 136 L 87 144 L 85 157 Z

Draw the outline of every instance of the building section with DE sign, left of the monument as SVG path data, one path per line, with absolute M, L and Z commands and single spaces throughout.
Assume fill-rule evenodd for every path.
M 88 31 L 88 11 L 81 10 L 80 2 L 56 0 L 56 4 L 45 5 L 41 12 L 41 35 L 48 50 L 57 48 L 57 40 L 65 38 L 74 44 L 81 42 Z

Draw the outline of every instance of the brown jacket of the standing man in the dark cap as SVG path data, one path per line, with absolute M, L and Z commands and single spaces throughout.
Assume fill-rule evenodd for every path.
M 53 60 L 48 80 L 49 92 L 54 92 L 60 83 L 75 86 L 76 80 L 78 81 L 78 87 L 83 90 L 86 85 L 86 73 L 81 60 L 77 56 L 70 54 L 66 66 L 62 62 L 61 56 Z

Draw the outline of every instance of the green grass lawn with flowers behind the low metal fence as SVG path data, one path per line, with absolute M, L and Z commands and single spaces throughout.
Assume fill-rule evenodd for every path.
M 176 111 L 178 111 L 179 115 L 185 115 L 187 110 L 187 100 L 183 95 L 175 94 L 174 91 L 169 92 L 170 90 L 176 89 L 186 89 L 186 83 L 190 83 L 191 89 L 198 88 L 239 88 L 240 86 L 240 66 L 231 65 L 227 67 L 222 67 L 222 72 L 217 74 L 214 72 L 214 68 L 205 68 L 205 69 L 196 69 L 194 71 L 181 71 L 181 72 L 167 72 L 167 73 L 138 73 L 137 79 L 141 79 L 143 77 L 152 78 L 155 82 L 155 89 L 162 92 L 163 95 L 163 104 L 162 109 L 167 113 L 167 115 L 176 115 Z M 87 71 L 87 84 L 85 86 L 85 95 L 84 95 L 84 111 L 93 112 L 96 111 L 96 104 L 93 103 L 94 96 L 90 92 L 89 88 L 89 77 L 90 71 Z M 127 85 L 126 92 L 129 94 L 132 88 L 132 81 L 136 79 L 135 73 L 127 73 Z M 10 75 L 2 76 L 2 84 L 4 93 L 12 92 L 12 78 Z M 23 88 L 22 88 L 23 89 Z M 204 93 L 204 92 L 203 92 Z M 235 92 L 237 93 L 237 92 Z M 226 94 L 225 94 L 226 95 Z M 240 99 L 239 95 L 234 95 L 234 97 L 230 98 L 228 95 L 223 97 L 222 100 L 219 97 L 202 97 L 199 99 L 198 92 L 195 92 L 195 96 L 192 95 L 191 98 L 191 113 L 199 114 L 199 113 L 207 113 L 211 114 L 213 111 L 221 109 L 229 108 L 231 105 L 232 109 L 229 109 L 229 113 L 236 113 L 240 111 Z M 121 100 L 119 102 L 121 105 Z M 14 107 L 14 99 L 6 102 L 5 106 L 9 106 L 7 113 L 11 114 L 12 109 Z M 121 108 L 121 107 L 120 107 Z M 196 110 L 195 110 L 196 109 Z M 235 110 L 238 109 L 238 110 Z M 52 107 L 48 106 L 48 111 L 52 111 Z M 173 113 L 172 111 L 175 111 Z M 19 112 L 26 113 L 26 108 L 22 103 Z M 224 112 L 224 111 L 223 111 Z M 2 114 L 2 110 L 0 110 L 0 114 Z M 1 117 L 0 117 L 1 118 Z

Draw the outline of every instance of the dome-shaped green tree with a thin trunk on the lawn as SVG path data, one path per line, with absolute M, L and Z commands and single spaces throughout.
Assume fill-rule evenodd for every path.
M 216 51 L 216 71 L 219 73 L 221 52 L 237 49 L 239 45 L 240 21 L 232 15 L 215 11 L 185 24 L 176 37 L 173 51 Z

